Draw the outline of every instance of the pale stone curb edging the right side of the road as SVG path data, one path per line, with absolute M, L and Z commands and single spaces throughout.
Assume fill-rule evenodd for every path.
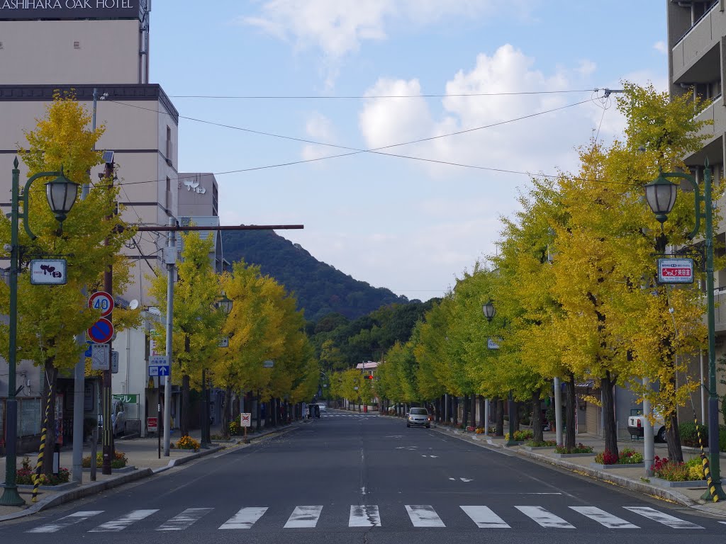
M 457 432 L 446 432 L 446 429 L 441 429 L 439 426 L 433 426 L 433 429 L 436 429 L 437 431 L 445 434 L 449 434 L 452 437 L 460 438 L 462 440 L 466 440 L 468 437 L 465 435 L 462 435 Z M 576 463 L 572 463 L 571 461 L 565 461 L 563 459 L 555 459 L 550 456 L 545 456 L 542 453 L 537 453 L 534 451 L 527 451 L 523 449 L 513 449 L 513 448 L 505 448 L 504 445 L 498 445 L 494 444 L 492 440 L 487 440 L 486 444 L 478 444 L 481 445 L 482 448 L 487 449 L 496 449 L 496 450 L 507 450 L 510 454 L 515 454 L 521 458 L 531 458 L 536 461 L 540 461 L 542 463 L 547 463 L 553 466 L 560 466 L 563 469 L 567 469 L 573 472 L 576 472 L 577 474 L 582 474 L 584 476 L 600 480 L 600 482 L 605 482 L 609 484 L 615 484 L 619 485 L 620 487 L 624 487 L 627 490 L 635 491 L 637 493 L 643 493 L 644 495 L 650 495 L 651 497 L 661 498 L 664 500 L 670 500 L 674 503 L 680 504 L 681 506 L 688 506 L 689 508 L 694 508 L 699 511 L 707 512 L 708 514 L 712 514 L 715 516 L 720 517 L 726 517 L 726 512 L 722 511 L 718 508 L 711 508 L 707 504 L 700 504 L 696 503 L 696 501 L 691 500 L 686 495 L 683 495 L 682 493 L 679 493 L 678 491 L 671 490 L 669 488 L 665 487 L 658 487 L 652 484 L 647 484 L 645 482 L 637 482 L 633 479 L 619 476 L 618 474 L 613 474 L 612 472 L 605 472 L 600 471 L 597 469 L 592 469 L 587 466 L 578 465 Z M 473 442 L 476 443 L 476 442 Z

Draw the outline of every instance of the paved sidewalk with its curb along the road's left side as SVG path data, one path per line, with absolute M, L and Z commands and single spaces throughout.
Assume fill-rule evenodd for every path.
M 306 421 L 306 420 L 303 420 Z M 281 432 L 289 432 L 294 429 L 298 429 L 303 421 L 295 421 L 290 425 L 281 425 L 276 427 L 270 427 L 269 429 L 262 429 L 261 432 L 248 434 L 250 443 L 258 442 L 263 440 L 265 437 L 269 437 L 272 434 L 279 434 Z M 212 428 L 211 433 L 221 434 L 219 428 Z M 200 441 L 200 431 L 191 432 L 192 438 Z M 74 483 L 64 484 L 54 487 L 43 487 L 41 486 L 40 492 L 38 493 L 38 500 L 36 503 L 31 502 L 33 496 L 32 486 L 18 486 L 18 492 L 20 497 L 25 499 L 25 506 L 0 506 L 0 522 L 7 519 L 15 519 L 17 517 L 29 516 L 35 514 L 46 508 L 57 506 L 62 503 L 66 503 L 70 500 L 76 500 L 78 498 L 86 497 L 88 495 L 94 495 L 100 493 L 103 490 L 110 489 L 112 487 L 118 487 L 119 485 L 126 484 L 127 482 L 133 482 L 137 479 L 150 477 L 153 474 L 171 469 L 174 466 L 179 466 L 183 463 L 193 461 L 197 458 L 208 456 L 213 453 L 217 453 L 220 450 L 230 450 L 232 448 L 246 448 L 249 444 L 242 443 L 242 436 L 233 437 L 234 440 L 225 442 L 224 440 L 212 440 L 212 444 L 209 449 L 200 449 L 197 452 L 194 450 L 179 450 L 172 448 L 169 450 L 169 456 L 164 456 L 163 442 L 161 445 L 161 458 L 158 456 L 158 438 L 131 438 L 129 440 L 117 439 L 115 440 L 115 450 L 121 451 L 126 455 L 127 463 L 124 469 L 113 469 L 112 474 L 105 475 L 101 474 L 101 469 L 96 471 L 96 481 L 91 482 L 91 471 L 90 469 L 83 469 L 83 481 L 81 485 Z M 176 443 L 179 440 L 179 432 L 171 435 L 171 442 Z M 98 451 L 101 451 L 101 445 L 98 445 Z M 31 466 L 35 466 L 37 453 L 26 454 L 30 458 Z M 83 457 L 91 455 L 91 445 L 83 445 Z M 17 457 L 17 468 L 21 468 L 23 462 L 23 456 Z M 73 451 L 63 450 L 60 453 L 60 466 L 65 469 L 71 469 L 73 466 Z M 71 478 L 73 475 L 71 474 Z M 0 480 L 4 482 L 5 479 L 5 458 L 0 458 Z M 2 487 L 0 484 L 0 494 L 2 493 Z

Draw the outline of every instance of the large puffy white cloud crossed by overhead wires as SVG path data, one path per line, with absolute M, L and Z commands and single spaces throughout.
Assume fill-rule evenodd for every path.
M 500 47 L 492 56 L 478 55 L 471 70 L 461 70 L 445 86 L 449 95 L 478 96 L 446 96 L 441 100 L 441 115 L 434 115 L 433 104 L 423 98 L 367 99 L 359 112 L 362 135 L 368 147 L 382 147 L 468 131 L 396 147 L 391 152 L 532 173 L 571 168 L 573 148 L 587 142 L 595 125 L 593 119 L 599 121 L 602 110 L 594 104 L 582 104 L 534 115 L 587 100 L 590 95 L 510 94 L 570 90 L 571 80 L 579 77 L 577 68 L 569 73 L 560 69 L 544 75 L 533 66 L 534 59 L 510 45 Z M 381 79 L 367 94 L 420 94 L 420 85 L 417 80 Z M 476 128 L 481 130 L 469 131 Z M 428 165 L 428 171 L 446 178 L 456 176 L 457 172 L 472 172 L 435 165 Z M 486 171 L 481 173 L 489 175 Z

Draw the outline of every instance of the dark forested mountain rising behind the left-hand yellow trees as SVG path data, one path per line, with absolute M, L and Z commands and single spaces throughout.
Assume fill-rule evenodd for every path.
M 274 231 L 223 231 L 224 258 L 230 263 L 244 259 L 259 265 L 298 299 L 308 321 L 318 321 L 329 313 L 356 319 L 383 305 L 406 304 L 389 289 L 372 287 L 321 263 L 299 244 Z

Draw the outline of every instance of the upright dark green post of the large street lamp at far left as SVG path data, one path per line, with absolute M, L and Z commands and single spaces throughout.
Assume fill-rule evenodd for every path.
M 17 365 L 17 268 L 20 262 L 20 247 L 17 243 L 17 222 L 19 218 L 18 199 L 20 197 L 20 170 L 18 170 L 17 157 L 13 162 L 15 168 L 12 170 L 12 212 L 10 215 L 10 308 L 9 308 L 9 353 L 8 353 L 8 379 L 7 379 L 7 403 L 5 411 L 7 413 L 7 429 L 5 429 L 5 485 L 2 497 L 0 497 L 1 506 L 22 506 L 25 500 L 20 498 L 17 493 L 17 485 L 15 485 L 15 476 L 17 474 L 17 459 L 15 458 L 17 451 L 17 399 L 15 370 Z M 27 210 L 23 210 L 27 212 Z

